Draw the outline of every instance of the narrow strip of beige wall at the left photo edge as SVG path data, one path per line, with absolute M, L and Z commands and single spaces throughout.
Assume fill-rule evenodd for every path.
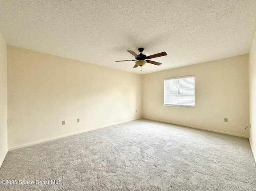
M 0 167 L 7 152 L 7 59 L 6 43 L 0 33 Z

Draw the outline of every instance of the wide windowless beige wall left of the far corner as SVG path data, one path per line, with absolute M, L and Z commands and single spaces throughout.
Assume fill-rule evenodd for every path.
M 7 50 L 8 148 L 142 117 L 141 75 Z

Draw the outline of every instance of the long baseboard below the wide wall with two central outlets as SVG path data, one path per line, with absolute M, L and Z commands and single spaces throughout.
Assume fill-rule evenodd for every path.
M 113 123 L 113 124 L 108 124 L 108 125 L 104 125 L 104 126 L 100 126 L 100 127 L 96 127 L 96 128 L 92 128 L 92 129 L 87 129 L 87 130 L 83 130 L 83 131 L 78 131 L 78 132 L 74 132 L 74 133 L 70 133 L 70 134 L 65 134 L 65 135 L 61 135 L 61 136 L 57 136 L 57 137 L 52 137 L 52 138 L 40 140 L 40 141 L 35 141 L 35 142 L 31 142 L 31 143 L 27 143 L 27 144 L 23 144 L 23 145 L 8 148 L 8 151 L 12 151 L 12 150 L 27 147 L 27 146 L 30 146 L 30 145 L 34 145 L 34 144 L 38 144 L 38 143 L 42 143 L 42 142 L 47 142 L 47 141 L 51 141 L 51 140 L 55 140 L 55 139 L 59 139 L 59 138 L 63 138 L 63 137 L 68 137 L 68 136 L 71 136 L 71 135 L 80 134 L 80 133 L 84 133 L 84 132 L 88 132 L 88 131 L 92 131 L 92 130 L 96 130 L 96 129 L 100 129 L 100 128 L 104 128 L 104 127 L 109 127 L 109 126 L 112 126 L 112 125 L 117 125 L 117 124 L 120 124 L 120 123 L 125 123 L 125 122 L 128 122 L 128 121 L 133 121 L 133 120 L 137 120 L 137 119 L 141 119 L 141 118 L 142 117 L 138 117 L 138 118 L 134 118 L 134 119 L 130 119 L 130 120 L 122 121 L 122 122 L 117 122 L 117 123 Z

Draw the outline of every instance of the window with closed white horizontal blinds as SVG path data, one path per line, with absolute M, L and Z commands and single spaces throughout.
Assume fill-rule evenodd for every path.
M 195 76 L 164 79 L 164 105 L 195 107 Z

